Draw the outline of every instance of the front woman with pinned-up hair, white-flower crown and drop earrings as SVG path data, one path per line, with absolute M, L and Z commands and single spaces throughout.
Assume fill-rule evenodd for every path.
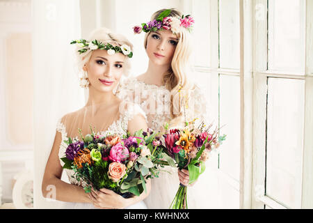
M 84 74 L 81 86 L 88 88 L 88 102 L 76 112 L 65 114 L 58 121 L 54 145 L 51 149 L 45 174 L 42 180 L 42 194 L 65 201 L 65 208 L 146 208 L 143 199 L 150 192 L 147 182 L 147 194 L 125 199 L 111 190 L 92 190 L 86 193 L 83 183 L 72 177 L 74 171 L 66 169 L 70 183 L 61 180 L 65 156 L 65 142 L 69 137 L 90 134 L 90 125 L 99 134 L 134 134 L 137 130 L 146 130 L 145 112 L 131 102 L 124 102 L 113 94 L 122 74 L 127 74 L 132 56 L 132 45 L 124 37 L 112 33 L 109 29 L 97 29 L 88 40 L 75 40 L 79 68 Z M 49 190 L 47 190 L 49 188 Z

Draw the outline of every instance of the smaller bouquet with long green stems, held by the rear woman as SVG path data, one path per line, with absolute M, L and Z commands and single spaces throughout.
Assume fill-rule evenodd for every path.
M 195 182 L 204 172 L 209 153 L 216 150 L 226 138 L 225 134 L 218 136 L 219 130 L 217 128 L 211 132 L 211 126 L 212 124 L 205 128 L 204 123 L 202 123 L 199 128 L 190 130 L 188 123 L 186 123 L 184 129 L 171 129 L 168 134 L 163 134 L 168 155 L 175 160 L 179 169 L 188 169 L 189 184 Z M 188 208 L 186 186 L 179 184 L 179 189 L 170 204 L 170 208 Z

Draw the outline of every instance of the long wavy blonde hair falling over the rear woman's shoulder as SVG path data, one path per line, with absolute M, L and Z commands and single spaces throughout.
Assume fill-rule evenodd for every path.
M 164 10 L 166 9 L 161 9 L 153 13 L 151 21 L 157 20 L 157 17 Z M 175 8 L 170 8 L 170 15 L 168 15 L 168 17 L 180 18 L 182 17 L 182 13 Z M 147 48 L 147 38 L 150 36 L 150 33 L 151 32 L 145 34 L 145 40 L 143 43 L 145 49 Z M 166 73 L 163 74 L 163 84 L 165 84 L 166 89 L 171 93 L 170 114 L 173 118 L 172 123 L 181 122 L 183 120 L 182 116 L 184 116 L 184 106 L 188 90 L 191 90 L 194 87 L 188 78 L 190 68 L 188 62 L 192 49 L 190 33 L 186 29 L 181 29 L 176 35 L 179 40 L 172 56 L 171 66 Z

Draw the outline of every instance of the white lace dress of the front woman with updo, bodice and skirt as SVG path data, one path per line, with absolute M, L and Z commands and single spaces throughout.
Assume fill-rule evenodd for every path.
M 142 114 L 145 118 L 145 112 L 143 112 L 143 110 L 141 109 L 141 107 L 139 107 L 138 105 L 134 105 L 134 104 L 129 104 L 131 106 L 128 106 L 127 109 L 123 112 L 120 113 L 120 116 L 118 118 L 117 121 L 114 121 L 109 128 L 107 128 L 105 131 L 100 131 L 98 132 L 99 134 L 102 135 L 107 135 L 107 134 L 126 134 L 127 132 L 127 125 L 128 122 L 131 121 L 132 118 L 134 118 L 134 116 L 136 114 Z M 61 145 L 60 145 L 60 149 L 59 149 L 59 153 L 58 156 L 61 157 L 65 157 L 65 150 L 67 148 L 67 144 L 65 144 L 64 141 L 68 140 L 67 137 L 67 128 L 65 126 L 64 123 L 62 123 L 61 119 L 58 121 L 57 126 L 56 126 L 56 130 L 58 132 L 61 132 L 62 134 L 62 141 L 61 141 Z M 62 160 L 60 160 L 61 165 L 64 165 L 64 162 Z M 73 178 L 72 176 L 74 175 L 74 171 L 71 169 L 65 169 L 65 172 L 68 176 L 68 179 L 70 181 L 71 184 L 74 185 L 79 185 L 81 187 L 83 187 L 83 183 L 80 183 L 79 181 L 76 180 L 76 178 Z M 92 203 L 71 203 L 71 202 L 64 202 L 64 207 L 63 208 L 79 208 L 79 209 L 92 209 L 95 208 L 95 206 L 93 206 Z M 145 203 L 143 201 L 140 201 L 138 203 L 135 203 L 132 206 L 127 207 L 127 209 L 145 209 L 147 208 L 147 206 L 145 206 Z

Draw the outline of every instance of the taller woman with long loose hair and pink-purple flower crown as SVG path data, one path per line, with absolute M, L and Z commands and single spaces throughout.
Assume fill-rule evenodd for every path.
M 116 95 L 141 105 L 152 130 L 164 132 L 165 123 L 170 128 L 182 128 L 186 121 L 198 125 L 208 119 L 204 95 L 188 77 L 193 23 L 190 15 L 183 16 L 171 8 L 158 10 L 150 22 L 134 27 L 134 33 L 145 32 L 143 46 L 149 57 L 148 68 L 138 77 L 121 81 Z M 188 184 L 188 171 L 171 167 L 168 171 L 172 174 L 165 172 L 152 179 L 154 190 L 145 199 L 147 208 L 169 208 L 179 183 L 194 184 Z M 189 191 L 189 195 L 195 193 Z M 188 208 L 205 208 L 205 203 L 189 196 Z

